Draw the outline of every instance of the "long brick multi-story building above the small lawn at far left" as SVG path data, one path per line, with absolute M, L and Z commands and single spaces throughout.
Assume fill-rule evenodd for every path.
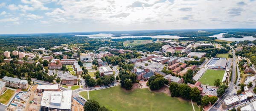
M 27 89 L 29 86 L 29 82 L 27 80 L 20 80 L 19 78 L 11 78 L 5 76 L 2 80 L 3 82 L 6 82 L 6 86 L 13 88 Z

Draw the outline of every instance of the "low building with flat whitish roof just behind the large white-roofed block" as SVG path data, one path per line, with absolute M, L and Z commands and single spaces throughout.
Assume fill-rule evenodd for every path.
M 58 85 L 40 85 L 40 84 L 38 84 L 37 92 L 41 93 L 41 92 L 44 92 L 44 91 L 57 92 L 57 91 L 60 91 L 60 88 L 59 88 Z

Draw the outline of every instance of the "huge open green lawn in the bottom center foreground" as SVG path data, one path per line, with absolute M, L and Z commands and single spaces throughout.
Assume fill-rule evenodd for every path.
M 87 98 L 87 92 L 79 93 Z M 112 111 L 193 111 L 191 101 L 170 97 L 165 93 L 154 93 L 148 89 L 125 92 L 120 86 L 89 92 L 90 99 Z M 199 108 L 194 104 L 195 110 Z

